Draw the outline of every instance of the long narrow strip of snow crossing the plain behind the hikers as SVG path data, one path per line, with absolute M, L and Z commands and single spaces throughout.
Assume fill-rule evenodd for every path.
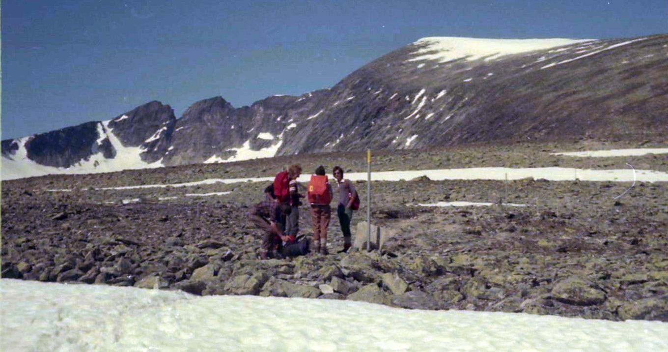
M 401 181 L 426 176 L 432 181 L 446 179 L 486 179 L 486 180 L 516 180 L 533 177 L 550 181 L 617 181 L 617 182 L 657 182 L 668 181 L 668 173 L 652 170 L 590 170 L 574 169 L 570 167 L 527 167 L 512 169 L 510 167 L 471 167 L 468 169 L 432 169 L 432 170 L 403 170 L 371 172 L 371 181 Z M 305 173 L 297 179 L 299 182 L 308 182 L 311 175 Z M 346 173 L 345 178 L 351 181 L 365 181 L 367 173 Z M 155 185 L 130 185 L 121 187 L 104 187 L 100 189 L 138 189 L 155 187 L 194 187 L 198 185 L 212 185 L 214 183 L 239 182 L 271 182 L 274 177 L 246 177 L 239 179 L 204 179 L 202 181 L 186 183 L 164 183 Z M 50 191 L 55 191 L 51 189 Z

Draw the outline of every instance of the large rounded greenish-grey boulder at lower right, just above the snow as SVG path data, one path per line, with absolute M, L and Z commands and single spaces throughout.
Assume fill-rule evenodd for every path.
M 552 296 L 558 302 L 575 306 L 592 306 L 605 302 L 605 292 L 597 284 L 578 276 L 560 280 L 552 288 Z

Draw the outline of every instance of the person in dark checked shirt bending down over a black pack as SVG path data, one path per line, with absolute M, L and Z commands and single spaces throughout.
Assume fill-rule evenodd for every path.
M 290 205 L 278 203 L 272 199 L 264 199 L 248 211 L 248 221 L 255 228 L 263 231 L 260 245 L 262 259 L 277 256 L 281 250 L 281 241 L 288 242 L 289 237 L 283 234 L 281 217 L 290 213 Z

